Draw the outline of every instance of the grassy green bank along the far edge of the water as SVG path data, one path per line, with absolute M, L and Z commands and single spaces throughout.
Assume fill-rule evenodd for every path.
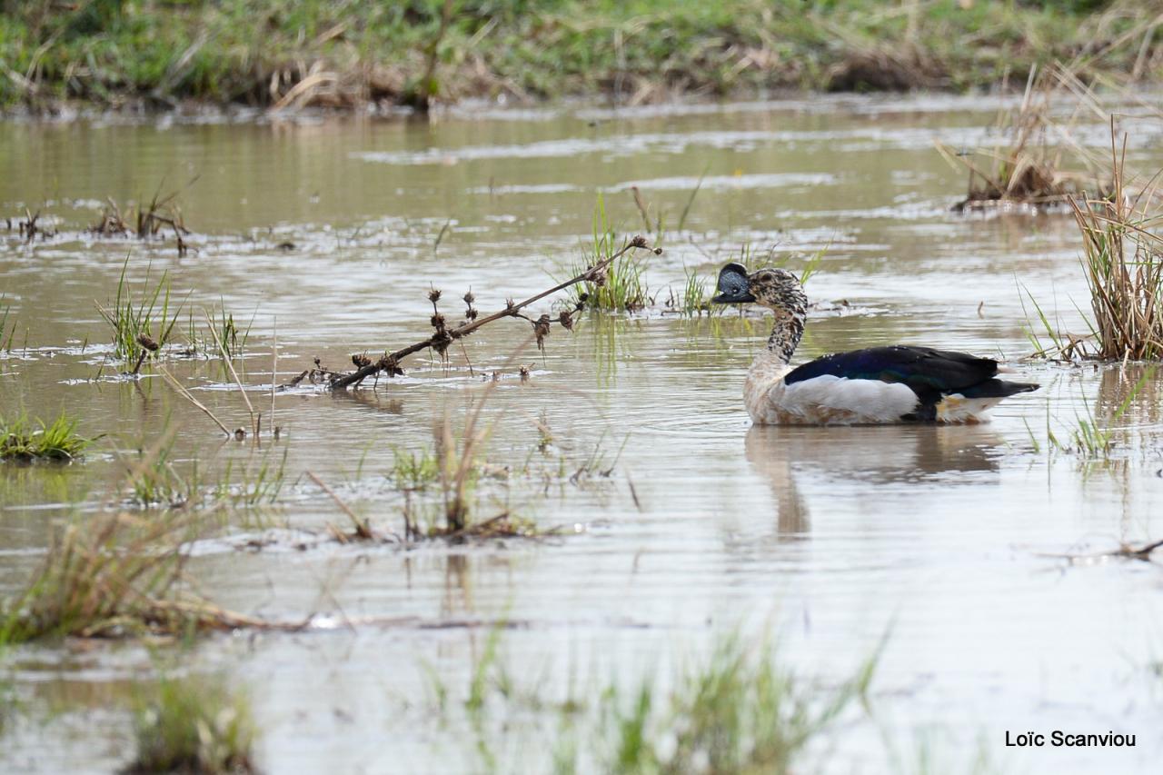
M 1163 76 L 1143 1 L 0 0 L 0 105 L 963 91 L 1055 59 Z

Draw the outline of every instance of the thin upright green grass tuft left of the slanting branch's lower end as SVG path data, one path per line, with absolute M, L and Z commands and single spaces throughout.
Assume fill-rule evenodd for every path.
M 105 318 L 113 330 L 114 355 L 126 363 L 134 363 L 133 374 L 141 370 L 147 357 L 157 354 L 169 343 L 173 327 L 181 312 L 179 304 L 170 314 L 170 282 L 167 272 L 162 272 L 157 285 L 150 291 L 149 270 L 145 273 L 144 289 L 141 299 L 135 304 L 133 291 L 126 273 L 129 270 L 129 256 L 121 266 L 117 279 L 117 297 L 113 307 L 97 304 L 98 312 Z

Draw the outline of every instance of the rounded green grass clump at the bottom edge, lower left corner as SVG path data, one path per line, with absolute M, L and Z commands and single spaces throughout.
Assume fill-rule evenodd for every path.
M 256 727 L 244 697 L 224 682 L 164 678 L 140 703 L 137 753 L 128 773 L 255 773 Z

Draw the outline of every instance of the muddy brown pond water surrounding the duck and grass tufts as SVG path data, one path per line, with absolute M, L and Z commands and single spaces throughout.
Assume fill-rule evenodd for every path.
M 59 229 L 33 246 L 0 233 L 0 292 L 16 321 L 10 351 L 0 353 L 0 411 L 64 408 L 84 432 L 107 434 L 83 463 L 0 467 L 0 595 L 24 583 L 55 522 L 116 497 L 122 456 L 169 424 L 186 477 L 197 465 L 214 483 L 229 463 L 237 479 L 264 462 L 286 475 L 276 507 L 240 513 L 194 547 L 202 590 L 235 610 L 316 614 L 320 625 L 188 648 L 10 648 L 0 682 L 16 710 L 0 768 L 121 766 L 134 683 L 164 664 L 248 689 L 270 772 L 480 770 L 472 735 L 458 721 L 441 726 L 430 675 L 463 695 L 490 624 L 507 621 L 501 661 L 556 697 L 578 683 L 663 674 L 659 664 L 736 628 L 777 637 L 783 662 L 825 684 L 883 642 L 873 712 L 849 714 L 811 747 L 807 766 L 820 772 L 914 772 L 927 749 L 943 772 L 970 772 L 978 752 L 1005 772 L 1156 772 L 1160 567 L 1054 555 L 1163 538 L 1161 383 L 1149 377 L 1111 420 L 1139 368 L 1020 361 L 1032 349 L 1021 287 L 1072 330 L 1083 329 L 1075 304 L 1085 307 L 1086 294 L 1069 218 L 949 213 L 965 180 L 933 141 L 989 143 L 996 109 L 919 97 L 477 108 L 430 125 L 0 125 L 2 214 L 40 207 Z M 1104 131 L 1096 122 L 1078 136 L 1100 150 Z M 1160 138 L 1136 133 L 1128 166 L 1157 169 Z M 81 234 L 105 197 L 148 198 L 163 179 L 183 187 L 195 253 L 179 258 L 172 240 Z M 930 344 L 998 355 L 1043 389 L 976 427 L 752 428 L 740 391 L 765 333 L 758 318 L 585 317 L 573 334 L 555 330 L 543 355 L 530 348 L 515 362 L 528 328 L 502 321 L 468 343 L 478 372 L 505 375 L 483 412 L 492 475 L 477 488 L 480 513 L 511 507 L 564 529 L 405 552 L 300 533 L 338 518 L 302 475 L 401 529 L 402 496 L 390 478 L 397 450 L 431 448 L 440 418 L 461 424 L 481 399 L 464 354 L 454 348 L 449 367 L 414 357 L 404 378 L 374 391 L 280 393 L 284 435 L 261 447 L 222 442 L 160 377 L 117 381 L 106 363 L 109 333 L 94 300 L 113 298 L 127 255 L 135 292 L 164 271 L 197 315 L 224 305 L 252 320 L 236 364 L 265 410 L 276 330 L 285 382 L 314 357 L 338 368 L 352 351 L 426 335 L 430 284 L 451 300 L 471 286 L 481 311 L 499 308 L 577 259 L 598 192 L 620 232 L 641 230 L 635 185 L 670 229 L 648 264 L 659 301 L 668 285 L 680 292 L 684 269 L 712 283 L 743 244 L 793 268 L 827 247 L 807 286 L 826 308 L 798 357 Z M 459 303 L 444 308 L 461 314 Z M 186 321 L 183 313 L 179 327 Z M 528 381 L 518 363 L 531 367 Z M 220 361 L 169 368 L 229 424 L 245 424 Z M 1053 450 L 1048 428 L 1065 439 L 1091 417 L 1116 426 L 1111 462 Z M 544 450 L 538 426 L 552 436 Z M 571 483 L 594 457 L 609 476 Z M 240 548 L 251 538 L 270 542 Z M 1113 730 L 1137 745 L 1020 749 L 1005 746 L 1007 730 Z M 544 763 L 543 735 L 523 746 L 513 728 L 488 738 L 502 770 Z

